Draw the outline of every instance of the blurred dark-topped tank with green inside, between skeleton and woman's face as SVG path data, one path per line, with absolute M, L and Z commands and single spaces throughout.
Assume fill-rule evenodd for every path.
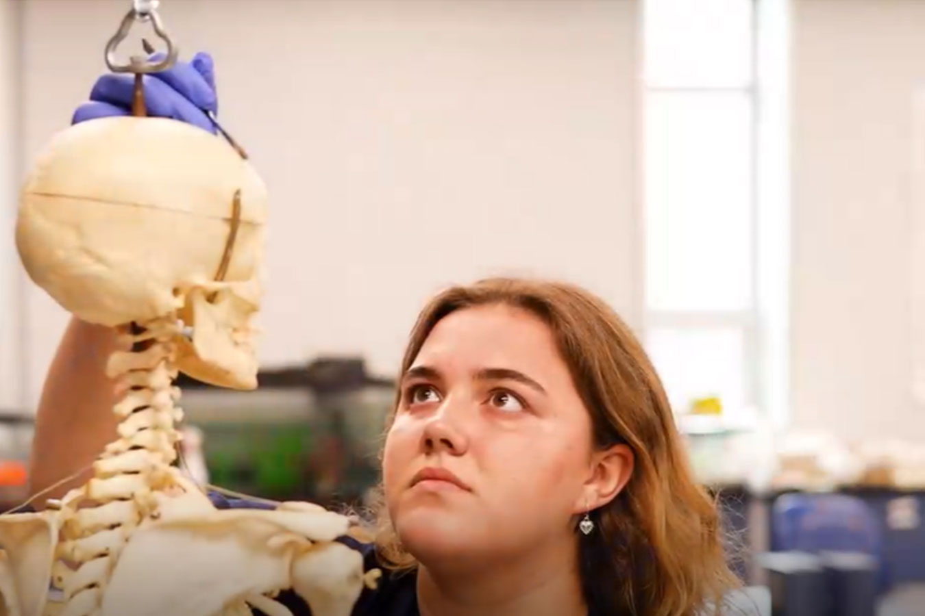
M 253 392 L 179 380 L 210 482 L 279 501 L 364 505 L 378 478 L 393 383 L 367 374 L 357 358 L 321 358 L 258 380 Z

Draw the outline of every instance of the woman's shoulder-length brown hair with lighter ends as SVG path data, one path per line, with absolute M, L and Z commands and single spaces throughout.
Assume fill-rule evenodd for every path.
M 648 356 L 598 297 L 571 284 L 510 278 L 450 288 L 419 315 L 401 373 L 439 320 L 489 304 L 522 308 L 547 323 L 590 413 L 594 445 L 624 443 L 635 456 L 625 488 L 591 513 L 595 531 L 576 533 L 588 606 L 635 616 L 693 616 L 722 606 L 739 585 L 727 566 L 717 506 L 693 477 Z M 376 516 L 380 560 L 393 570 L 413 569 L 381 503 Z

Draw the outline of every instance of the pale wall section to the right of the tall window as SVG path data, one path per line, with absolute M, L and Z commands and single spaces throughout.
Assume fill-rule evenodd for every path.
M 792 418 L 922 438 L 908 254 L 925 3 L 796 0 L 793 29 Z

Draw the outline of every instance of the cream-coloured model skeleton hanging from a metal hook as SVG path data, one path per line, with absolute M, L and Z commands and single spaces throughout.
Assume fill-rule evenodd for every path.
M 143 117 L 142 74 L 176 58 L 153 4 L 136 0 L 107 45 L 109 67 L 135 73 L 133 115 L 57 134 L 22 190 L 20 259 L 63 308 L 117 328 L 107 374 L 122 398 L 118 438 L 86 484 L 41 513 L 0 516 L 0 614 L 284 616 L 274 597 L 291 589 L 315 616 L 349 616 L 377 574 L 336 540 L 355 532 L 349 518 L 304 502 L 218 510 L 176 465 L 180 371 L 256 387 L 267 199 L 230 138 Z M 137 19 L 166 57 L 118 66 Z

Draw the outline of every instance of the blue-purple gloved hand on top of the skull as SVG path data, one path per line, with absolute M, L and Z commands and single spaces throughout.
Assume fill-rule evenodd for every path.
M 153 54 L 153 61 L 164 54 Z M 93 84 L 90 101 L 74 112 L 71 124 L 100 117 L 131 115 L 131 93 L 134 88 L 131 73 L 108 73 Z M 195 54 L 189 63 L 180 62 L 159 73 L 142 77 L 144 106 L 148 115 L 169 117 L 216 133 L 216 127 L 205 112 L 216 113 L 215 69 L 212 56 Z

